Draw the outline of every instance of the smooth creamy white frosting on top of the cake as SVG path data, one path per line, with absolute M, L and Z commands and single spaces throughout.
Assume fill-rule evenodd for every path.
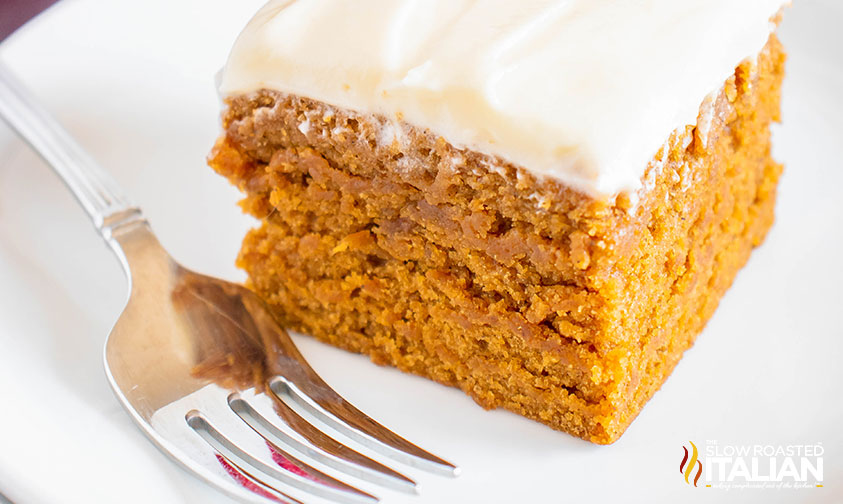
M 220 92 L 380 114 L 611 197 L 640 187 L 670 133 L 761 50 L 783 3 L 271 0 Z

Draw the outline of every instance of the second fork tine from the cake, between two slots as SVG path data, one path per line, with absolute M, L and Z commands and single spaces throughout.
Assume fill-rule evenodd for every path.
M 340 444 L 335 439 L 313 427 L 283 401 L 278 400 L 276 397 L 272 397 L 272 399 L 274 399 L 275 411 L 278 416 L 293 431 L 301 435 L 313 446 L 302 443 L 279 429 L 252 407 L 238 392 L 228 397 L 228 405 L 249 427 L 273 445 L 283 446 L 356 478 L 401 492 L 411 494 L 417 492 L 418 488 L 415 481 Z

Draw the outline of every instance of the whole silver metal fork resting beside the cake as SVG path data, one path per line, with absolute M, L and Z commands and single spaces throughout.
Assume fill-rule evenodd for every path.
M 340 397 L 251 291 L 176 263 L 140 209 L 2 64 L 0 115 L 62 178 L 123 265 L 129 300 L 106 340 L 105 370 L 164 453 L 248 502 L 377 501 L 313 462 L 416 491 L 413 480 L 326 430 L 411 467 L 458 474 Z

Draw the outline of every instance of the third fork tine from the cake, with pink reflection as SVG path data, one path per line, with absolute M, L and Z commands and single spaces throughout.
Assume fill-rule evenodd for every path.
M 319 480 L 324 480 L 325 483 L 300 476 L 290 471 L 281 471 L 269 464 L 266 464 L 265 462 L 238 448 L 228 438 L 223 436 L 222 433 L 220 433 L 215 427 L 213 427 L 202 415 L 202 413 L 197 410 L 189 411 L 187 415 L 185 415 L 185 419 L 187 420 L 188 425 L 190 425 L 190 427 L 218 453 L 227 460 L 231 461 L 238 469 L 246 473 L 249 477 L 259 481 L 268 488 L 283 493 L 281 490 L 276 488 L 276 485 L 287 485 L 310 495 L 323 497 L 334 502 L 342 502 L 345 504 L 374 504 L 378 502 L 377 497 L 336 480 L 315 468 L 307 466 L 307 464 L 304 464 L 287 453 L 282 452 L 282 455 L 293 462 L 296 466 L 301 465 L 307 467 L 305 470 L 307 474 L 312 474 Z M 302 467 L 302 469 L 304 469 L 304 467 Z M 255 473 L 259 473 L 260 476 Z

